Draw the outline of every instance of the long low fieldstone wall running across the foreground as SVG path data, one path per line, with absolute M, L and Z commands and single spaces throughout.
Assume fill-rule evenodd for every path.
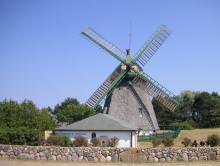
M 0 157 L 28 160 L 171 162 L 220 160 L 220 147 L 107 148 L 0 145 Z

